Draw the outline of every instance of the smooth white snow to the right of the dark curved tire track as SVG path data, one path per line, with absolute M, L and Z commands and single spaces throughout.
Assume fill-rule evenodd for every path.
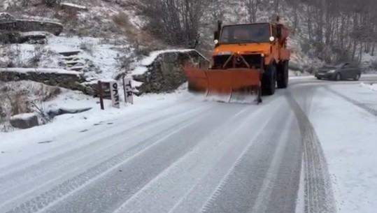
M 377 105 L 376 93 L 364 87 L 331 88 L 356 101 Z M 329 164 L 339 212 L 376 212 L 377 117 L 319 88 L 313 97 L 310 119 Z

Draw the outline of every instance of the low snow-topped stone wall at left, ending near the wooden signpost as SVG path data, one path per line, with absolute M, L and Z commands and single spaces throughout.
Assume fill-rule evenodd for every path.
M 86 87 L 83 82 L 85 79 L 76 72 L 43 72 L 38 69 L 19 69 L 0 68 L 0 81 L 10 82 L 19 80 L 32 80 L 41 82 L 45 85 L 64 87 L 66 89 L 83 91 L 84 94 L 93 95 L 90 87 Z

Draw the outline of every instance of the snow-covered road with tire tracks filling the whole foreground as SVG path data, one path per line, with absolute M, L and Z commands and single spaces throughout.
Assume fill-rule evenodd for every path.
M 360 82 L 299 78 L 262 105 L 183 98 L 151 109 L 32 146 L 0 144 L 0 212 L 377 207 L 377 93 Z

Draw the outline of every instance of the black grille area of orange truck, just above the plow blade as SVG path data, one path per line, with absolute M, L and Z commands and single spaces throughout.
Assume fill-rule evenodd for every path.
M 229 59 L 230 55 L 216 55 L 213 57 L 213 68 L 222 68 L 225 62 Z M 255 66 L 255 68 L 260 68 L 262 57 L 260 54 L 243 54 L 242 57 L 248 62 L 249 66 Z M 233 68 L 233 59 L 229 61 L 225 68 Z M 247 68 L 246 64 L 242 62 L 242 59 L 236 60 L 235 68 Z

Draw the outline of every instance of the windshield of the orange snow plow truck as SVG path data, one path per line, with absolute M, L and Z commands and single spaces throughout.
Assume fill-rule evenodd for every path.
M 267 23 L 224 26 L 220 43 L 269 42 L 270 36 L 270 27 Z

